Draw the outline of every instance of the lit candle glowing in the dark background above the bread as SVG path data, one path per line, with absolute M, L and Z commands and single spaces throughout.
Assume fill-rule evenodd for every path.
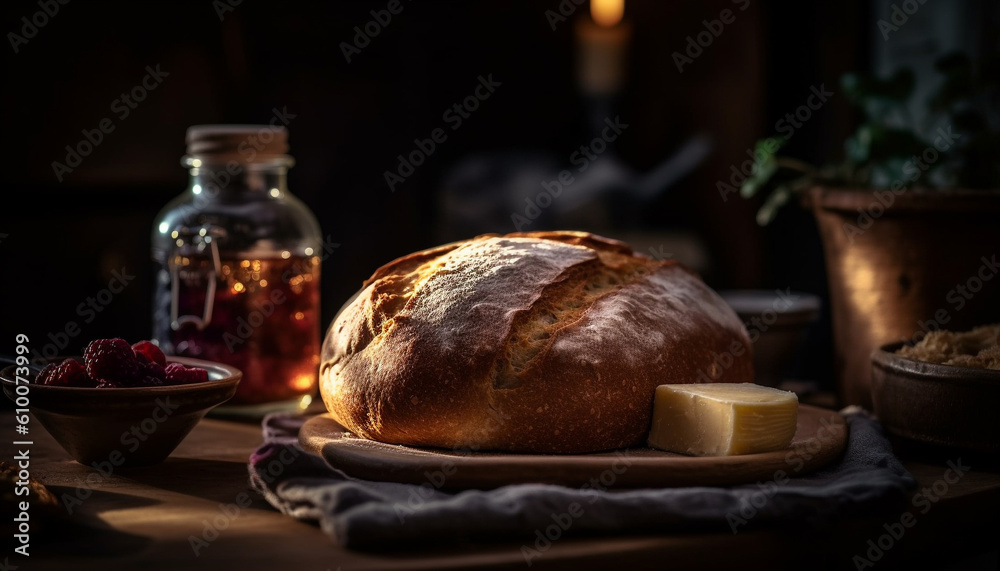
M 632 31 L 624 13 L 625 0 L 591 0 L 590 17 L 575 23 L 577 79 L 588 95 L 609 96 L 621 90 Z

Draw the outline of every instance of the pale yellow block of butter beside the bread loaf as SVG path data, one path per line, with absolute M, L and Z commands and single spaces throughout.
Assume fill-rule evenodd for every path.
M 660 385 L 649 445 L 694 456 L 733 456 L 788 447 L 795 393 L 753 383 Z

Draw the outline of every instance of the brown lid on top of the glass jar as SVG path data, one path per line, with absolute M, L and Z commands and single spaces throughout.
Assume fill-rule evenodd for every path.
M 274 125 L 192 125 L 187 154 L 202 159 L 260 162 L 288 154 L 288 129 Z

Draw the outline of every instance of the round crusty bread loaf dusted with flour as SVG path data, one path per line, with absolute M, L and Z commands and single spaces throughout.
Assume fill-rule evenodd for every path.
M 452 449 L 640 446 L 661 384 L 753 382 L 725 302 L 581 232 L 484 235 L 382 266 L 330 324 L 320 387 L 358 436 Z

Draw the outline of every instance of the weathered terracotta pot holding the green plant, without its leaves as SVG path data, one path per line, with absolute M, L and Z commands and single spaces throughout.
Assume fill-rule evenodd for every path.
M 1000 321 L 1000 192 L 814 188 L 840 399 L 872 409 L 871 357 Z

